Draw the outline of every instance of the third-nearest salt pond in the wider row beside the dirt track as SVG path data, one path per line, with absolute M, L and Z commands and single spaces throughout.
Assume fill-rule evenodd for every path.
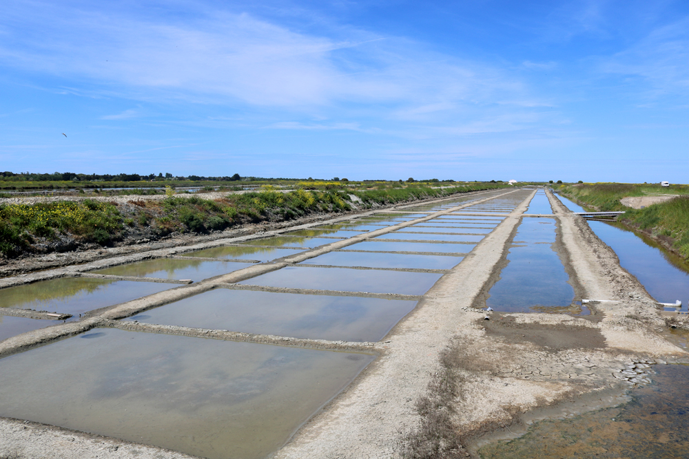
M 435 284 L 435 281 L 440 279 L 440 276 L 435 273 L 287 266 L 272 273 L 241 281 L 239 284 L 423 295 Z

